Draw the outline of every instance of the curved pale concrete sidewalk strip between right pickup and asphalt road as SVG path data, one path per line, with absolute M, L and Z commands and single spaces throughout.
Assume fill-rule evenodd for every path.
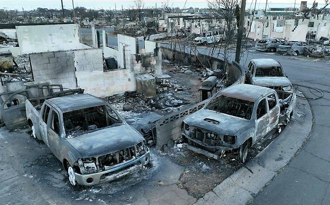
M 282 132 L 245 166 L 230 175 L 194 204 L 246 204 L 261 191 L 304 144 L 312 129 L 307 100 L 297 98 L 293 119 Z

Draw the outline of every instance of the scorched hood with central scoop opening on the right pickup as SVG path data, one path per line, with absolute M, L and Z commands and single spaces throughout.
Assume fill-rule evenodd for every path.
M 218 121 L 219 123 L 214 124 L 212 122 L 206 121 L 205 119 L 211 119 Z M 248 119 L 218 113 L 204 108 L 188 116 L 184 120 L 184 122 L 190 126 L 200 127 L 223 135 L 234 135 L 249 121 L 250 120 Z

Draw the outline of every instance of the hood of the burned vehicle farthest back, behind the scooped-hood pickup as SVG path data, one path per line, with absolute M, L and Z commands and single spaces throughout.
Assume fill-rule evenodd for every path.
M 286 77 L 253 77 L 252 84 L 264 87 L 269 86 L 291 86 L 291 82 Z

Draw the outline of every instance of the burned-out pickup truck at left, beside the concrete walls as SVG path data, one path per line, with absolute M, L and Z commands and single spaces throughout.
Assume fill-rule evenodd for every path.
M 90 94 L 26 100 L 33 135 L 45 142 L 68 171 L 71 185 L 94 185 L 147 164 L 143 137 L 104 100 Z

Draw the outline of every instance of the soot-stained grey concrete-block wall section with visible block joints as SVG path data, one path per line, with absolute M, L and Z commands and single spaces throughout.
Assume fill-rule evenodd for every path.
M 77 87 L 72 51 L 33 53 L 29 57 L 36 83 L 62 84 L 71 89 Z

